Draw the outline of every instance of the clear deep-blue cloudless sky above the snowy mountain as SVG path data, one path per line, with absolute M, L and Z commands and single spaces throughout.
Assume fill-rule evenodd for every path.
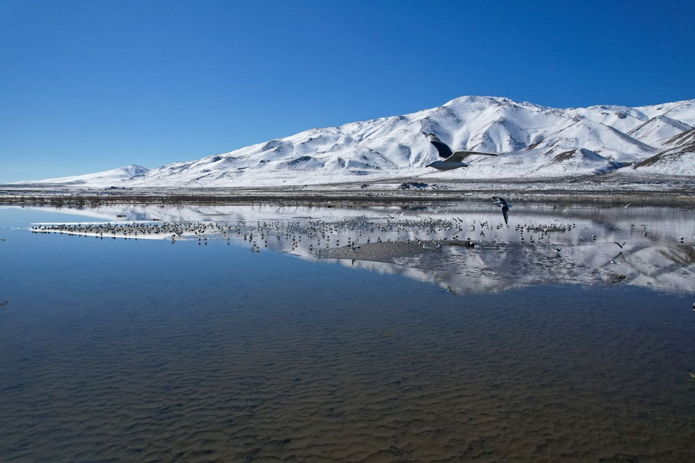
M 158 167 L 463 95 L 695 98 L 695 1 L 0 0 L 0 183 Z

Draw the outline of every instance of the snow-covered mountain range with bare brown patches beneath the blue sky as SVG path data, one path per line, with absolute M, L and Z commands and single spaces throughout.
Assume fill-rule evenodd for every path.
M 291 137 L 154 169 L 138 166 L 33 183 L 92 187 L 237 187 L 376 180 L 402 176 L 521 178 L 604 174 L 624 169 L 695 175 L 695 99 L 655 106 L 557 109 L 489 96 Z M 439 172 L 427 133 L 473 157 Z

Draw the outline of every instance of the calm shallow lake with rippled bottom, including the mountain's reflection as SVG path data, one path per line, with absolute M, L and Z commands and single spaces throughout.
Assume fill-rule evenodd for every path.
M 693 214 L 0 208 L 0 460 L 695 461 Z

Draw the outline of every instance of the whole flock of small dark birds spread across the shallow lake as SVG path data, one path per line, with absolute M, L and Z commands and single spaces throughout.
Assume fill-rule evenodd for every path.
M 508 212 L 509 204 L 496 196 L 491 205 L 491 208 L 495 207 L 504 214 Z M 571 262 L 577 259 L 591 260 L 587 256 L 594 255 L 598 260 L 605 258 L 600 267 L 605 267 L 605 271 L 615 278 L 626 277 L 614 275 L 609 269 L 632 262 L 636 254 L 648 247 L 647 240 L 659 239 L 661 235 L 660 230 L 652 230 L 645 224 L 632 224 L 622 231 L 608 230 L 597 228 L 591 219 L 575 217 L 574 220 L 563 220 L 560 217 L 566 217 L 564 214 L 545 221 L 529 221 L 527 218 L 513 225 L 493 219 L 498 217 L 497 214 L 485 214 L 480 209 L 473 214 L 471 217 L 443 209 L 427 212 L 401 210 L 395 214 L 366 210 L 359 216 L 344 219 L 339 216 L 334 219 L 304 216 L 272 220 L 122 221 L 38 224 L 31 230 L 34 233 L 108 240 L 168 239 L 172 244 L 197 241 L 201 248 L 212 244 L 215 249 L 226 240 L 228 245 L 235 244 L 236 248 L 248 246 L 254 254 L 268 249 L 310 259 L 352 259 L 353 262 L 375 260 L 375 256 L 380 255 L 391 259 L 422 253 L 424 260 L 437 262 L 459 262 L 459 259 L 467 262 L 465 259 L 470 258 L 476 262 L 508 264 L 521 258 L 519 262 L 545 262 L 544 265 L 554 268 L 555 264 L 560 267 L 574 265 Z M 380 246 L 380 243 L 384 245 Z M 682 237 L 680 244 L 684 244 Z M 456 249 L 466 245 L 476 248 L 474 254 Z M 420 251 L 418 246 L 422 248 Z M 438 253 L 443 254 L 437 256 Z M 527 259 L 528 253 L 534 257 Z

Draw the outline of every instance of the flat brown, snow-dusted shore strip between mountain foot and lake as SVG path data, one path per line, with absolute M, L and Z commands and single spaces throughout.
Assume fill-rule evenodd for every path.
M 351 183 L 259 187 L 85 187 L 0 185 L 0 204 L 97 206 L 107 204 L 418 205 L 480 201 L 493 194 L 515 202 L 695 205 L 694 176 L 653 178 L 604 175 L 530 179 L 364 179 Z

